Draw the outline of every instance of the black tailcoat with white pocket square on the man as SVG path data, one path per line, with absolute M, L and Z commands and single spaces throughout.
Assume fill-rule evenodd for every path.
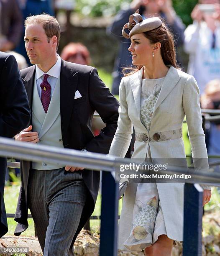
M 32 109 L 35 65 L 21 70 L 21 77 Z M 77 90 L 82 97 L 74 100 Z M 77 150 L 85 148 L 90 152 L 108 154 L 117 128 L 118 106 L 118 101 L 98 77 L 95 68 L 61 59 L 60 115 L 64 148 Z M 100 114 L 106 127 L 101 130 L 98 136 L 94 137 L 91 123 L 95 110 Z M 15 229 L 16 236 L 28 228 L 27 185 L 30 169 L 31 162 L 21 162 L 22 185 L 15 212 L 15 221 L 18 222 Z M 82 170 L 82 177 L 88 188 L 88 196 L 73 242 L 94 210 L 100 172 L 84 169 Z

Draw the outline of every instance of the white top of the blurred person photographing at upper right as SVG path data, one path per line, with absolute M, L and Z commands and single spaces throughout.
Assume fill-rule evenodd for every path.
M 216 23 L 215 48 L 212 48 L 213 35 L 205 22 L 195 22 L 184 32 L 184 49 L 189 54 L 187 73 L 194 76 L 204 93 L 206 84 L 220 78 L 220 24 Z

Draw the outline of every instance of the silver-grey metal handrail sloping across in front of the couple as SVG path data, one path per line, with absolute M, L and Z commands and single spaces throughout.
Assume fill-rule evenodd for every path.
M 114 172 L 122 164 L 140 164 L 135 159 L 118 159 L 114 156 L 97 154 L 92 152 L 82 152 L 69 148 L 56 148 L 52 146 L 37 145 L 32 143 L 14 141 L 12 139 L 0 137 L 0 156 L 14 157 L 15 159 L 25 159 L 37 162 L 59 163 L 70 166 L 79 166 L 92 170 L 103 170 Z M 161 170 L 161 174 L 190 174 L 194 178 L 200 178 L 200 182 L 220 183 L 220 173 L 212 172 L 190 172 L 184 167 L 169 166 L 169 170 Z M 192 183 L 190 180 L 184 182 Z

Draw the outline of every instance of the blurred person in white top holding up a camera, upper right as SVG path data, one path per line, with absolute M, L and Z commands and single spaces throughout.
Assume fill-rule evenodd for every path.
M 212 4 L 212 10 L 202 8 L 203 4 Z M 201 0 L 191 17 L 193 24 L 184 32 L 187 72 L 195 77 L 202 95 L 210 80 L 220 78 L 220 0 Z

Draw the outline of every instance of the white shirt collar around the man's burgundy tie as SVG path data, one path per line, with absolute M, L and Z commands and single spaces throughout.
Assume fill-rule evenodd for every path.
M 40 98 L 41 98 L 41 87 L 40 87 L 40 84 L 43 82 L 43 74 L 49 74 L 49 77 L 48 77 L 47 81 L 51 85 L 51 97 L 53 95 L 57 79 L 60 76 L 60 69 L 61 69 L 61 58 L 60 58 L 60 56 L 58 54 L 57 54 L 57 56 L 58 56 L 58 59 L 56 61 L 56 64 L 54 64 L 54 66 L 51 67 L 51 69 L 47 73 L 44 73 L 36 65 L 35 77 L 36 77 L 36 80 L 37 80 L 37 90 L 38 90 L 38 95 L 39 95 Z

